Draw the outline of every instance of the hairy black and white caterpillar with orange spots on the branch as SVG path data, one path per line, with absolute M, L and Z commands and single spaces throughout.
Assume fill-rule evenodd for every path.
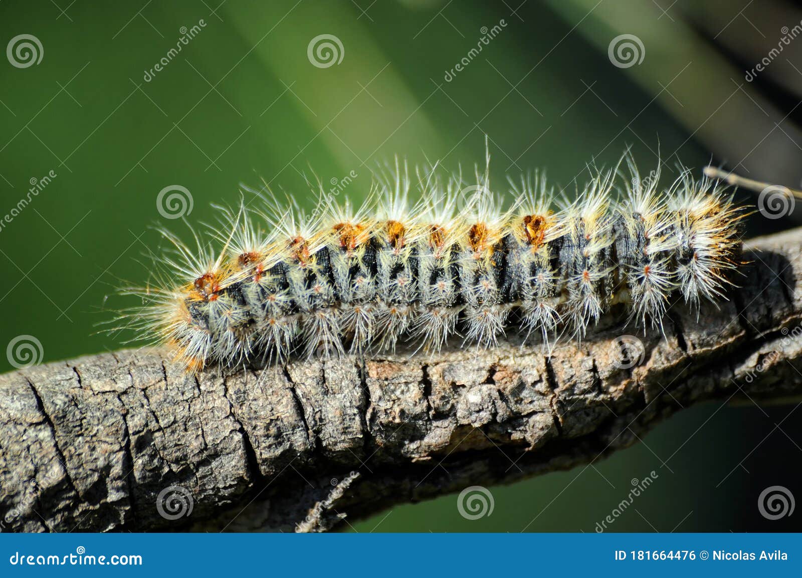
M 360 208 L 319 184 L 310 213 L 261 194 L 261 207 L 220 208 L 213 242 L 193 232 L 191 248 L 162 230 L 172 249 L 152 284 L 124 290 L 143 305 L 122 317 L 189 371 L 399 342 L 488 348 L 513 329 L 549 348 L 585 338 L 618 303 L 627 323 L 662 329 L 672 298 L 697 311 L 726 298 L 745 215 L 718 180 L 680 168 L 661 189 L 659 166 L 642 179 L 622 159 L 628 170 L 591 168 L 573 201 L 542 174 L 510 180 L 508 208 L 489 155 L 472 185 L 436 165 L 413 179 L 396 160 Z

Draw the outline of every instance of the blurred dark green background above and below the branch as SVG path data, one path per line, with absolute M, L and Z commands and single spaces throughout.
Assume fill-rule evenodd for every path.
M 128 303 L 113 294 L 120 280 L 148 280 L 141 255 L 160 244 L 149 227 L 186 232 L 157 210 L 170 185 L 191 193 L 192 223 L 262 179 L 310 207 L 312 171 L 323 183 L 354 172 L 346 192 L 358 199 L 396 153 L 470 167 L 488 135 L 502 190 L 506 174 L 531 168 L 573 190 L 586 163 L 613 163 L 628 145 L 644 172 L 659 150 L 666 182 L 678 160 L 712 160 L 799 186 L 802 39 L 752 82 L 745 74 L 800 19 L 779 0 L 0 2 L 2 46 L 32 34 L 43 50 L 30 67 L 0 59 L 0 219 L 32 180 L 56 175 L 0 228 L 0 346 L 33 335 L 46 362 L 122 346 L 95 325 Z M 342 43 L 341 62 L 313 65 L 319 34 Z M 631 66 L 609 55 L 620 34 L 642 44 Z M 749 234 L 795 217 L 753 216 Z M 488 517 L 464 519 L 451 495 L 351 528 L 593 532 L 630 479 L 654 470 L 611 530 L 798 530 L 799 514 L 769 521 L 757 508 L 768 486 L 802 495 L 793 410 L 698 406 L 591 467 L 491 488 Z

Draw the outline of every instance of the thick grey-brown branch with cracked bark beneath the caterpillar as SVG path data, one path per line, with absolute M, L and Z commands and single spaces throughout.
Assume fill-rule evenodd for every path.
M 747 243 L 741 289 L 674 305 L 621 369 L 621 312 L 546 358 L 374 355 L 185 376 L 161 350 L 0 376 L 0 521 L 22 532 L 332 529 L 344 516 L 601 459 L 683 406 L 802 393 L 802 229 Z M 443 467 L 439 467 L 442 464 Z M 178 486 L 192 513 L 160 515 Z M 168 515 L 180 513 L 161 500 Z

